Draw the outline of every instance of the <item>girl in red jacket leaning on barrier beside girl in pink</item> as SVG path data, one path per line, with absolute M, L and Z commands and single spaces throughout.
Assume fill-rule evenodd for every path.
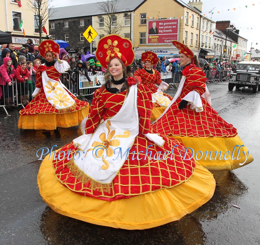
M 26 81 L 29 77 L 29 71 L 26 68 L 26 61 L 22 61 L 15 70 L 15 76 L 17 81 L 18 96 L 21 103 L 29 103 L 28 101 L 28 86 Z M 20 102 L 19 102 L 20 103 Z

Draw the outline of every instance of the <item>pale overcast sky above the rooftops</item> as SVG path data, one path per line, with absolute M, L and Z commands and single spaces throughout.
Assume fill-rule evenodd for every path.
M 95 2 L 97 0 L 53 0 L 52 4 L 55 7 L 63 7 Z M 189 0 L 183 0 L 183 2 L 188 3 Z M 239 35 L 248 39 L 247 52 L 250 52 L 251 43 L 252 47 L 260 49 L 260 0 L 204 0 L 202 2 L 203 13 L 207 18 L 213 21 L 230 20 L 231 23 L 235 24 Z M 209 13 L 211 10 L 212 15 Z M 258 45 L 256 45 L 257 42 Z

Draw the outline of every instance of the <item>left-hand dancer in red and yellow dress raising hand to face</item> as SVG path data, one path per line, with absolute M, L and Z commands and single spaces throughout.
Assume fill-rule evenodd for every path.
M 59 45 L 52 40 L 41 42 L 41 56 L 46 62 L 36 71 L 34 99 L 20 111 L 19 129 L 52 130 L 72 127 L 81 123 L 88 115 L 88 102 L 76 98 L 60 81 L 60 73 L 70 66 L 58 56 Z

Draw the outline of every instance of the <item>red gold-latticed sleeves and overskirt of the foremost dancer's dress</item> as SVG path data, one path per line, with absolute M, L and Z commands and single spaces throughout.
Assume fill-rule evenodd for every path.
M 93 133 L 101 119 L 105 120 L 114 116 L 122 107 L 125 97 L 126 91 L 112 94 L 107 90 L 102 91 L 98 89 L 94 94 L 90 108 L 89 118 L 86 123 L 86 133 Z M 146 134 L 149 131 L 152 109 L 151 93 L 142 85 L 138 87 L 137 106 L 139 134 L 135 138 L 127 160 L 118 171 L 108 190 L 93 189 L 90 183 L 91 180 L 84 181 L 81 177 L 78 177 L 77 172 L 73 171 L 74 161 L 67 160 L 77 151 L 73 143 L 67 144 L 60 149 L 60 151 L 65 152 L 63 160 L 56 159 L 53 161 L 57 179 L 64 186 L 80 195 L 110 201 L 170 188 L 187 181 L 194 173 L 195 164 L 194 160 L 183 160 L 180 157 L 180 155 L 183 156 L 183 151 L 181 154 L 180 151 L 184 146 L 174 139 L 162 136 L 165 143 L 163 147 L 159 147 L 142 135 L 142 133 Z M 156 132 L 154 131 L 153 133 Z M 181 147 L 175 145 L 181 145 Z M 148 155 L 145 159 L 146 149 Z M 161 160 L 163 153 L 166 151 L 169 152 L 167 160 Z M 72 154 L 69 157 L 68 152 Z M 140 160 L 137 160 L 137 152 L 139 152 L 138 158 Z M 157 157 L 158 152 L 161 152 L 159 159 Z M 171 152 L 172 158 L 170 159 Z M 151 159 L 148 160 L 150 154 Z

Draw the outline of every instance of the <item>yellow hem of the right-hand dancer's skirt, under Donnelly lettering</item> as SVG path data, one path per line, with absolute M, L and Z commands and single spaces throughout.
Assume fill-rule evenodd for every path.
M 235 137 L 209 138 L 172 136 L 169 138 L 174 138 L 182 142 L 185 147 L 192 148 L 195 160 L 210 171 L 233 170 L 243 167 L 254 160 L 246 146 L 242 146 L 244 143 L 238 135 Z M 189 151 L 192 153 L 191 149 L 189 149 Z M 206 151 L 208 153 L 205 153 Z M 211 159 L 210 151 L 212 151 Z M 214 152 L 216 151 L 218 153 L 215 157 L 216 153 Z M 228 151 L 230 151 L 230 153 Z M 246 157 L 248 157 L 247 160 L 243 151 L 246 153 Z M 224 159 L 225 153 L 226 160 Z

